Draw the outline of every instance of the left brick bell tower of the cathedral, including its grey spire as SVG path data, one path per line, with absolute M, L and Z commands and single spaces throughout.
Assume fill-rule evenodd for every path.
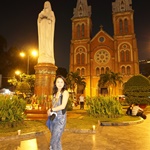
M 79 72 L 90 87 L 91 6 L 87 0 L 78 0 L 72 17 L 70 72 Z M 86 93 L 87 94 L 87 93 Z

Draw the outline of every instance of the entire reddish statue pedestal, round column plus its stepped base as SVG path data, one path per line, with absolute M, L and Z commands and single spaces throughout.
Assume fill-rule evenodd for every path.
M 27 120 L 47 119 L 47 108 L 50 107 L 48 96 L 52 95 L 54 80 L 56 77 L 57 67 L 51 63 L 38 63 L 34 66 L 35 69 L 35 85 L 34 94 L 37 100 L 40 99 L 41 104 L 35 102 L 34 108 L 26 110 Z

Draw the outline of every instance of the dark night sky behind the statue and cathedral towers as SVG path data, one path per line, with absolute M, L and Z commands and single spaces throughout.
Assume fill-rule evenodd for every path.
M 8 43 L 7 49 L 38 49 L 37 17 L 45 0 L 5 0 L 0 4 L 0 35 Z M 113 36 L 112 2 L 114 0 L 88 0 L 92 7 L 92 36 L 100 25 Z M 132 0 L 134 27 L 138 42 L 139 59 L 150 59 L 150 9 L 148 0 Z M 77 0 L 50 0 L 55 13 L 54 52 L 56 66 L 69 68 L 69 52 L 73 9 Z

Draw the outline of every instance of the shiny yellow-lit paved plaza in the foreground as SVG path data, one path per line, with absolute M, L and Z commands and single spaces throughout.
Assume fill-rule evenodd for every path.
M 0 140 L 0 150 L 48 150 L 50 133 Z M 150 114 L 142 123 L 98 126 L 96 133 L 65 131 L 63 150 L 150 150 Z

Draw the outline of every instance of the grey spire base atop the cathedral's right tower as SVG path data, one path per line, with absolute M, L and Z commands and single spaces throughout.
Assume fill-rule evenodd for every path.
M 112 3 L 113 13 L 132 10 L 132 0 L 116 0 Z

